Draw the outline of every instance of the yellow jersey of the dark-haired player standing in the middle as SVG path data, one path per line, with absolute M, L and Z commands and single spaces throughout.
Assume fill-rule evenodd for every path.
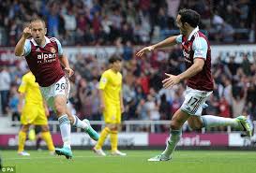
M 99 80 L 98 89 L 103 91 L 106 105 L 120 105 L 120 92 L 122 90 L 122 75 L 114 73 L 112 69 L 106 70 Z

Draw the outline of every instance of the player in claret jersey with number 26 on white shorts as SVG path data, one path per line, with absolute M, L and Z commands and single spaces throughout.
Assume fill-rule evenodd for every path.
M 56 112 L 64 145 L 63 148 L 55 149 L 55 152 L 69 159 L 73 155 L 70 147 L 70 124 L 83 128 L 95 140 L 98 140 L 98 133 L 88 120 L 81 121 L 77 116 L 71 115 L 67 107 L 70 86 L 68 78 L 74 71 L 68 64 L 59 40 L 45 36 L 46 32 L 43 20 L 32 20 L 30 26 L 23 30 L 23 36 L 15 47 L 15 55 L 25 57 L 47 105 Z

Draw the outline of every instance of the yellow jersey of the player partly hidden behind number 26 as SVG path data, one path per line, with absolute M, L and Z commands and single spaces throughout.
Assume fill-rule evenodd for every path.
M 31 72 L 23 75 L 22 84 L 18 91 L 25 94 L 25 104 L 43 104 L 38 82 L 36 82 L 36 78 Z

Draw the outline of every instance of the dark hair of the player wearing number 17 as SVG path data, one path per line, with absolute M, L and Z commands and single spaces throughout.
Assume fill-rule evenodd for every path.
M 182 23 L 188 22 L 193 28 L 197 27 L 200 22 L 200 14 L 192 9 L 180 9 L 178 14 Z

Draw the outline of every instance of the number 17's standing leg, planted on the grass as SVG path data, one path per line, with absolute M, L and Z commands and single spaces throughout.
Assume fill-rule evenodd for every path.
M 188 120 L 188 113 L 178 109 L 172 118 L 170 137 L 167 140 L 165 151 L 156 157 L 148 159 L 148 161 L 168 161 L 171 159 L 173 151 L 175 150 L 177 143 L 182 135 L 182 125 Z

